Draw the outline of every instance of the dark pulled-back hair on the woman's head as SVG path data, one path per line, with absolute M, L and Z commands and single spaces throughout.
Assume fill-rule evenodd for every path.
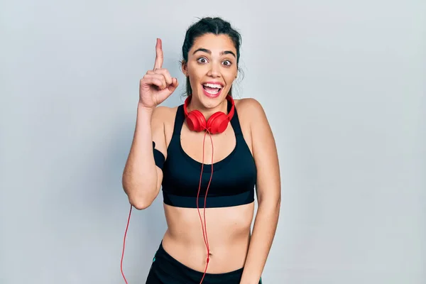
M 207 33 L 213 33 L 214 35 L 229 35 L 229 38 L 234 42 L 236 49 L 236 64 L 238 67 L 240 58 L 240 46 L 241 46 L 241 35 L 238 31 L 231 27 L 231 24 L 224 21 L 222 18 L 206 17 L 201 18 L 200 21 L 193 23 L 190 28 L 187 29 L 185 34 L 185 40 L 182 45 L 182 58 L 184 62 L 188 61 L 188 52 L 192 48 L 195 40 L 202 35 Z M 192 88 L 190 84 L 190 78 L 186 79 L 186 95 L 192 94 Z M 229 89 L 229 95 L 232 96 L 232 87 Z

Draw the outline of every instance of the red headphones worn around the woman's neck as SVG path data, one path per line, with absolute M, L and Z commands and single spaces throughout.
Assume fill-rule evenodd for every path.
M 185 111 L 185 116 L 187 119 L 187 124 L 190 130 L 192 131 L 204 131 L 208 130 L 212 134 L 222 133 L 226 130 L 229 121 L 231 121 L 232 116 L 234 116 L 234 99 L 231 96 L 226 96 L 226 99 L 231 102 L 232 107 L 229 111 L 229 114 L 224 114 L 222 111 L 217 111 L 216 113 L 210 116 L 209 120 L 206 121 L 204 115 L 197 109 L 190 111 L 188 113 L 187 106 L 190 103 L 192 96 L 188 96 L 185 99 L 185 104 L 183 104 L 183 110 Z

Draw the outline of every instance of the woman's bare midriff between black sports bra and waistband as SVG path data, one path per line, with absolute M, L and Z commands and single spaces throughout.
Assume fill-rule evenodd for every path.
M 200 206 L 204 222 L 204 208 Z M 204 272 L 207 248 L 197 208 L 164 204 L 168 229 L 163 248 L 170 256 L 195 271 Z M 250 243 L 254 202 L 235 207 L 205 209 L 210 260 L 207 273 L 227 273 L 244 267 Z

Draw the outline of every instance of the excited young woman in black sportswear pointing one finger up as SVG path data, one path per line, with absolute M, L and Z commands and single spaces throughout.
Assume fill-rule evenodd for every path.
M 182 46 L 187 99 L 173 108 L 158 106 L 178 87 L 163 68 L 161 44 L 140 82 L 123 174 L 136 209 L 162 187 L 168 229 L 146 283 L 261 283 L 280 211 L 280 170 L 261 104 L 232 98 L 241 36 L 221 18 L 190 26 Z

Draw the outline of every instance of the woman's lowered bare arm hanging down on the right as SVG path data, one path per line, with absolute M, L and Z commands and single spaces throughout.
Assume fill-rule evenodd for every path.
M 258 169 L 256 182 L 258 211 L 240 283 L 258 284 L 278 224 L 281 201 L 280 168 L 275 139 L 261 104 L 255 99 L 249 99 L 247 104 L 253 117 L 251 141 Z

